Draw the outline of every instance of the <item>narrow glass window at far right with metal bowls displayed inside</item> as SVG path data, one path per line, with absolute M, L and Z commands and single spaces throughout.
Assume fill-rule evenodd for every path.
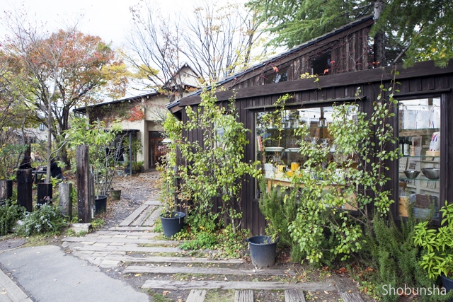
M 399 216 L 439 219 L 440 98 L 399 103 Z

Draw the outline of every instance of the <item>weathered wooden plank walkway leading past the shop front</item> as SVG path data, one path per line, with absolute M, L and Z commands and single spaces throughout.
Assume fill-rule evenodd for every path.
M 285 302 L 304 302 L 304 291 L 336 292 L 345 302 L 363 301 L 360 294 L 350 290 L 351 284 L 338 282 L 284 281 L 225 281 L 210 280 L 215 275 L 224 276 L 285 276 L 294 277 L 291 269 L 240 269 L 221 267 L 241 265 L 241 259 L 216 260 L 207 257 L 186 257 L 178 248 L 180 242 L 156 240 L 161 233 L 154 233 L 153 226 L 159 219 L 159 201 L 149 199 L 142 202 L 130 216 L 108 231 L 90 233 L 84 237 L 64 238 L 63 246 L 74 255 L 84 258 L 105 269 L 117 268 L 122 274 L 148 277 L 142 289 L 164 289 L 167 291 L 188 291 L 186 302 L 203 302 L 212 289 L 235 290 L 235 302 L 253 302 L 254 291 L 285 291 Z M 157 254 L 157 255 L 156 255 Z M 195 265 L 194 265 L 195 264 Z M 200 267 L 202 265 L 202 267 Z M 214 267 L 216 266 L 217 267 Z M 206 267 L 207 266 L 207 267 Z M 155 280 L 161 275 L 196 275 L 197 279 L 181 281 Z M 205 276 L 205 277 L 202 277 Z M 251 280 L 250 279 L 250 280 Z M 201 281 L 200 281 L 201 280 Z M 270 278 L 269 278 L 270 280 Z M 338 283 L 338 286 L 336 285 Z M 352 285 L 353 286 L 353 285 Z

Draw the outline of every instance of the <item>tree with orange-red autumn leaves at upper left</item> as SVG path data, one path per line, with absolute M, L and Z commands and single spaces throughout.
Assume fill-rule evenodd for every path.
M 1 42 L 1 60 L 21 76 L 30 92 L 23 95 L 25 104 L 44 113 L 41 122 L 56 143 L 62 142 L 62 134 L 69 128 L 72 109 L 100 103 L 106 95 L 118 98 L 125 94 L 125 64 L 100 37 L 80 33 L 76 25 L 48 33 L 30 25 L 21 11 L 6 13 L 3 21 L 10 35 Z M 49 159 L 50 148 L 49 143 Z M 69 163 L 64 148 L 59 155 Z

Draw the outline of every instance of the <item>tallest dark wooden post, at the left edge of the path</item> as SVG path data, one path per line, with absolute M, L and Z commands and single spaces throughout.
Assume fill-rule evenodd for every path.
M 91 190 L 90 165 L 88 161 L 88 146 L 79 145 L 76 149 L 77 191 L 79 222 L 91 222 Z

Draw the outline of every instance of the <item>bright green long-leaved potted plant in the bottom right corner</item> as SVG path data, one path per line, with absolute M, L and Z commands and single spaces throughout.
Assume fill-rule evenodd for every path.
M 428 226 L 430 221 L 418 223 L 415 226 L 414 243 L 424 252 L 418 263 L 428 272 L 430 279 L 440 276 L 448 292 L 453 289 L 453 204 L 445 201 L 445 207 L 440 212 L 442 226 L 436 230 Z

